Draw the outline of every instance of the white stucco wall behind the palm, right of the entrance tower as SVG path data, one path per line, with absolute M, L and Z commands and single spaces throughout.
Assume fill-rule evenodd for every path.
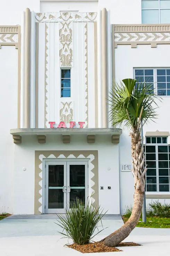
M 166 57 L 165 57 L 166 56 Z M 169 68 L 170 45 L 157 45 L 151 48 L 150 45 L 137 45 L 137 48 L 131 48 L 130 45 L 118 45 L 115 49 L 115 77 L 119 82 L 125 78 L 133 78 L 133 68 Z M 162 102 L 158 101 L 157 109 L 158 119 L 156 123 L 151 122 L 143 128 L 143 134 L 146 131 L 169 131 L 170 119 L 167 117 L 170 97 L 162 97 Z M 120 137 L 120 166 L 122 163 L 130 163 L 130 137 L 129 131 L 124 129 Z M 121 212 L 125 206 L 133 205 L 134 181 L 131 172 L 120 171 L 120 208 Z M 151 193 L 150 193 L 151 194 Z M 148 200 L 147 200 L 148 201 Z

